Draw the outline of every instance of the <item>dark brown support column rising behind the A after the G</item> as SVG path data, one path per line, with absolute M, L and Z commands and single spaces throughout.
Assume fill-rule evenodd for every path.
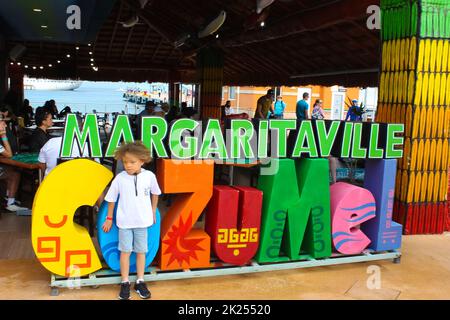
M 223 86 L 223 52 L 206 48 L 197 55 L 197 79 L 200 88 L 200 115 L 202 119 L 220 119 Z

